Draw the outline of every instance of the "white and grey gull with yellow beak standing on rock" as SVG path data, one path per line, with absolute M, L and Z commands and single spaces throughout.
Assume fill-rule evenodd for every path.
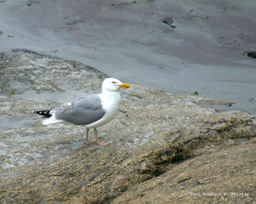
M 107 78 L 102 83 L 101 94 L 81 96 L 58 108 L 46 111 L 35 110 L 33 113 L 49 117 L 43 121 L 43 125 L 55 122 L 84 125 L 86 127 L 85 142 L 87 144 L 97 142 L 101 146 L 107 146 L 109 143 L 99 141 L 96 127 L 110 122 L 116 116 L 121 101 L 120 87 L 129 88 L 130 85 L 122 83 L 118 79 Z M 94 128 L 94 139 L 88 139 L 90 128 Z

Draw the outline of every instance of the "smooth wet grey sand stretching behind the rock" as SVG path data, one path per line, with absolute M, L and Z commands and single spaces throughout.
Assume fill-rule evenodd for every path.
M 247 57 L 256 51 L 255 10 L 255 0 L 2 0 L 0 52 L 72 59 L 123 82 L 197 91 L 255 114 L 256 59 Z

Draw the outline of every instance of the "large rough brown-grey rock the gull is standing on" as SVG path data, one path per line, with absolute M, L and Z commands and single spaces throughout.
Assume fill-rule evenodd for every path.
M 256 200 L 256 115 L 196 105 L 229 102 L 131 84 L 119 113 L 99 128 L 107 147 L 86 144 L 83 127 L 31 120 L 59 97 L 99 93 L 106 77 L 75 61 L 0 54 L 0 121 L 11 124 L 0 123 L 1 204 Z

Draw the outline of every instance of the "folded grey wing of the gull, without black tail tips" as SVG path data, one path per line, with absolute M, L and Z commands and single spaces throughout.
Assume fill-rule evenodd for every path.
M 61 119 L 75 125 L 88 125 L 105 115 L 99 94 L 82 96 L 53 111 L 56 119 Z

